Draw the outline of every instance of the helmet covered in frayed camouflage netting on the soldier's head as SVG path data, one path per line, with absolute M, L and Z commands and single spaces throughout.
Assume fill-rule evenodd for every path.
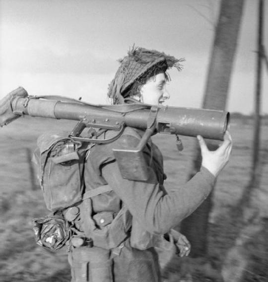
M 128 55 L 119 60 L 121 65 L 109 84 L 108 97 L 113 99 L 114 104 L 123 103 L 135 81 L 144 76 L 149 78 L 159 68 L 163 72 L 172 67 L 181 70 L 180 63 L 183 61 L 163 52 L 133 46 Z

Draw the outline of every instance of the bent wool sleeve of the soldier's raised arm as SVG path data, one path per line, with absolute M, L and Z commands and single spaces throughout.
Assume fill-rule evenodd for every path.
M 214 176 L 201 168 L 186 184 L 165 195 L 150 171 L 146 182 L 123 179 L 116 162 L 102 167 L 102 176 L 128 207 L 143 228 L 164 234 L 195 211 L 211 192 Z

